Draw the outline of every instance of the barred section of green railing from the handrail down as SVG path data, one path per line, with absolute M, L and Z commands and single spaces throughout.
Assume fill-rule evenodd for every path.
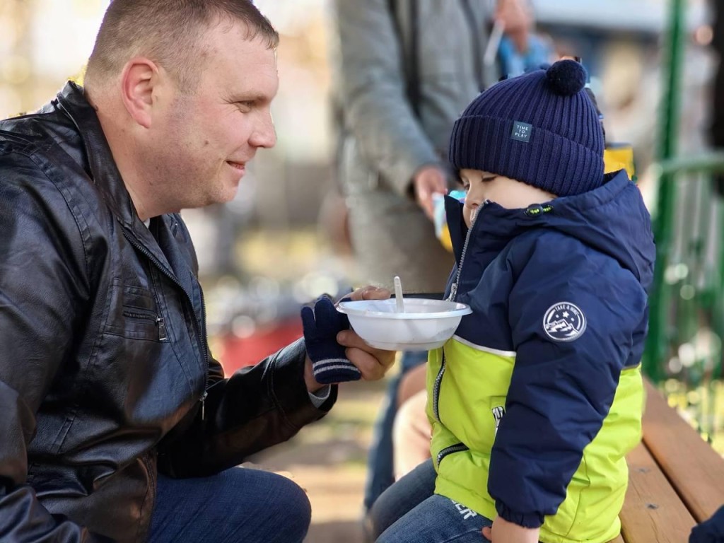
M 724 338 L 724 205 L 713 175 L 724 152 L 661 161 L 654 220 L 657 261 L 644 371 L 696 386 L 721 372 Z

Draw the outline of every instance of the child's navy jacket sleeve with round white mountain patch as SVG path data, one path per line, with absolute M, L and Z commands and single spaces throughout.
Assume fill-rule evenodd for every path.
M 647 322 L 630 271 L 572 238 L 553 241 L 553 251 L 539 243 L 510 293 L 516 358 L 488 480 L 498 514 L 531 528 L 565 499 Z

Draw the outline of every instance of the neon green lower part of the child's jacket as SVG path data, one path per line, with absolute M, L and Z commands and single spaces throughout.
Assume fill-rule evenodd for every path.
M 454 338 L 445 345 L 443 367 L 442 352 L 431 353 L 428 371 L 436 492 L 495 518 L 494 500 L 487 492 L 490 451 L 515 356 L 486 352 Z M 624 369 L 613 405 L 584 450 L 565 500 L 555 515 L 545 517 L 542 542 L 607 542 L 618 535 L 618 511 L 628 481 L 625 455 L 640 440 L 642 405 L 640 368 Z

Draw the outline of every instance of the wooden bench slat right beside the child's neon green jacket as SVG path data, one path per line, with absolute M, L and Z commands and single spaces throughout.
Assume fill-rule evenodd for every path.
M 696 521 L 681 502 L 652 455 L 640 444 L 626 456 L 628 490 L 620 513 L 626 543 L 689 541 Z M 655 500 L 655 501 L 654 501 Z

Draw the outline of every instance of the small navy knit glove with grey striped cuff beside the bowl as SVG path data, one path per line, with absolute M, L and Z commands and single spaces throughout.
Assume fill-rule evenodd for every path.
M 320 296 L 314 308 L 302 308 L 302 327 L 314 379 L 321 384 L 356 381 L 362 374 L 337 343 L 337 334 L 350 327 L 347 316 L 337 311 L 327 296 Z

